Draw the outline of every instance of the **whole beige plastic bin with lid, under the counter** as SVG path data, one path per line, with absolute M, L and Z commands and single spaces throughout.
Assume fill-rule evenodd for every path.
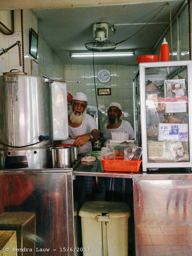
M 128 204 L 87 201 L 79 210 L 81 216 L 83 256 L 128 256 Z

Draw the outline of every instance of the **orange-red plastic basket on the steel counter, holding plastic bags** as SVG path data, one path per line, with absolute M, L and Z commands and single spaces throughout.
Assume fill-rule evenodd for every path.
M 101 160 L 104 171 L 107 172 L 139 172 L 142 160 L 126 161 L 124 157 L 116 157 L 117 160 Z

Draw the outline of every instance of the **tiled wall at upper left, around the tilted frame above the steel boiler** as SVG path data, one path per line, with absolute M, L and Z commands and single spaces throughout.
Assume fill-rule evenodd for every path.
M 2 12 L 1 12 L 2 15 Z M 3 12 L 3 15 L 8 15 Z M 21 42 L 21 12 L 20 10 L 14 11 L 14 27 L 15 32 L 13 35 L 4 35 L 0 33 L 0 48 L 7 48 L 14 44 L 16 41 Z M 24 72 L 31 75 L 31 59 L 29 55 L 29 32 L 30 29 L 38 32 L 38 21 L 34 13 L 30 9 L 23 10 L 23 41 L 24 41 Z M 8 72 L 11 69 L 18 69 L 23 71 L 23 66 L 19 66 L 18 47 L 15 46 L 9 52 L 0 56 L 0 75 L 3 72 Z M 38 59 L 35 60 L 39 63 L 39 76 L 48 76 L 55 80 L 64 80 L 64 65 L 61 59 L 55 55 L 49 45 L 39 34 L 38 41 Z

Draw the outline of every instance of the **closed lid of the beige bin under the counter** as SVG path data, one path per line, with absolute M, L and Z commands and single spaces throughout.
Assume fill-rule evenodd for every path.
M 106 215 L 111 218 L 129 218 L 129 205 L 122 202 L 87 201 L 79 210 L 79 216 L 95 218 L 97 215 Z

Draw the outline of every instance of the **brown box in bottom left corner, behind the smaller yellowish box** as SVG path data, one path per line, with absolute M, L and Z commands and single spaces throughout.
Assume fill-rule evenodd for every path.
M 34 212 L 3 212 L 0 215 L 0 230 L 15 230 L 17 236 L 17 249 L 31 248 L 32 251 L 18 251 L 18 256 L 34 256 L 35 235 Z

